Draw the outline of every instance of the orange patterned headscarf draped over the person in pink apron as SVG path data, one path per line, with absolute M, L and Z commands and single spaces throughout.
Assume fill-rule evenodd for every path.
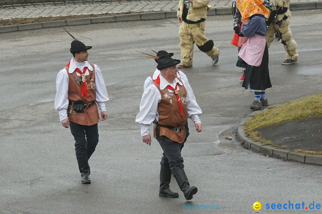
M 264 0 L 237 0 L 237 9 L 242 15 L 242 23 L 248 24 L 249 17 L 262 14 L 265 18 L 270 16 L 270 10 L 262 5 Z

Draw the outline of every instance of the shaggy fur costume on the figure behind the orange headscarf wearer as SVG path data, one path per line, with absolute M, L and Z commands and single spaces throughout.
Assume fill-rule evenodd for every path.
M 274 5 L 275 2 L 275 5 Z M 268 26 L 268 31 L 265 36 L 267 46 L 274 40 L 274 34 L 279 32 L 282 39 L 282 44 L 286 51 L 286 59 L 291 59 L 293 61 L 298 60 L 297 44 L 292 38 L 292 32 L 289 28 L 289 23 L 291 19 L 291 11 L 289 10 L 290 0 L 275 0 L 271 1 L 273 6 L 277 6 L 277 16 L 272 24 Z

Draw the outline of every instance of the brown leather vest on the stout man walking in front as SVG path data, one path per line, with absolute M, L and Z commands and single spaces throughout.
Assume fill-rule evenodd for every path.
M 179 79 L 180 82 L 181 79 Z M 159 113 L 159 122 L 160 136 L 164 135 L 170 140 L 173 140 L 178 143 L 183 143 L 185 141 L 185 127 L 183 127 L 188 120 L 188 110 L 187 110 L 187 90 L 182 85 L 178 84 L 179 98 L 182 103 L 183 115 L 180 115 L 180 109 L 178 104 L 177 96 L 175 92 L 169 92 L 167 88 L 161 90 L 160 85 L 157 83 L 152 83 L 159 89 L 161 93 L 161 101 L 158 104 L 158 113 Z M 181 133 L 175 133 L 175 131 L 168 129 L 162 126 L 174 126 L 174 127 L 183 127 Z M 153 136 L 156 137 L 156 126 L 153 127 Z

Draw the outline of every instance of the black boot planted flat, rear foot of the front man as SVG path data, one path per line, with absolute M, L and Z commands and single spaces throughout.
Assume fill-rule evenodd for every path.
M 171 181 L 171 169 L 168 167 L 161 166 L 160 169 L 160 197 L 169 197 L 175 198 L 178 197 L 179 194 L 177 192 L 173 192 L 169 188 L 169 184 Z

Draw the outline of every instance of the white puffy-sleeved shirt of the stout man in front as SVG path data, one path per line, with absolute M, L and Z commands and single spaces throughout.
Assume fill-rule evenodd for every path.
M 168 84 L 162 84 L 162 82 L 166 81 L 162 76 L 160 76 L 160 88 L 164 89 Z M 178 79 L 175 79 L 174 82 L 179 82 Z M 188 109 L 188 117 L 194 123 L 201 123 L 199 119 L 199 115 L 202 114 L 201 108 L 198 106 L 196 102 L 196 98 L 194 96 L 194 92 L 189 85 L 189 83 L 183 79 L 182 80 L 185 89 L 187 90 L 187 109 Z M 162 86 L 163 85 L 163 86 Z M 173 90 L 168 89 L 171 93 Z M 137 114 L 135 121 L 141 125 L 141 136 L 148 135 L 150 133 L 150 125 L 154 120 L 158 121 L 158 103 L 161 101 L 161 93 L 156 88 L 155 85 L 149 85 L 143 92 L 141 103 L 140 103 L 140 112 Z

